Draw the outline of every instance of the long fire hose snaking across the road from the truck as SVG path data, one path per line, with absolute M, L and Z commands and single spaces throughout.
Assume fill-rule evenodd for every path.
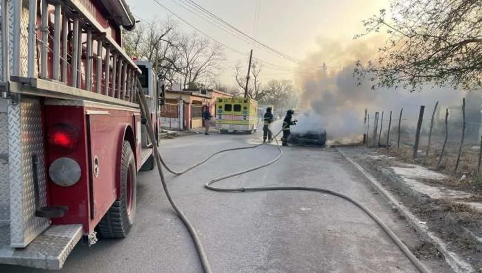
M 181 221 L 184 223 L 184 225 L 188 229 L 191 238 L 193 238 L 193 241 L 194 241 L 195 247 L 197 249 L 197 253 L 199 254 L 199 259 L 201 261 L 204 272 L 212 273 L 213 270 L 211 270 L 211 265 L 209 265 L 208 257 L 206 255 L 206 252 L 204 251 L 204 247 L 202 246 L 202 242 L 199 239 L 197 231 L 193 227 L 193 224 L 191 224 L 189 222 L 186 215 L 184 215 L 184 213 L 181 211 L 181 209 L 179 209 L 179 207 L 177 206 L 177 204 L 172 199 L 172 197 L 169 193 L 168 186 L 166 184 L 166 179 L 165 179 L 164 174 L 163 174 L 162 166 L 164 166 L 164 168 L 166 168 L 166 170 L 168 170 L 172 174 L 182 175 L 182 174 L 188 172 L 189 170 L 192 170 L 193 168 L 196 168 L 197 166 L 206 163 L 206 161 L 215 157 L 215 155 L 220 155 L 221 153 L 229 152 L 229 151 L 233 151 L 233 150 L 245 150 L 245 149 L 258 148 L 262 145 L 265 145 L 266 143 L 263 142 L 263 143 L 260 143 L 260 144 L 254 145 L 254 146 L 246 146 L 246 147 L 229 148 L 229 149 L 225 149 L 225 150 L 220 150 L 218 152 L 213 153 L 213 155 L 210 155 L 210 156 L 206 157 L 206 159 L 204 159 L 202 161 L 199 161 L 197 164 L 186 168 L 185 170 L 181 170 L 181 171 L 172 170 L 171 168 L 169 168 L 167 166 L 166 162 L 163 161 L 163 159 L 160 155 L 159 147 L 157 146 L 157 141 L 156 141 L 156 138 L 155 138 L 155 135 L 154 135 L 154 130 L 152 128 L 152 120 L 150 118 L 150 112 L 149 112 L 149 108 L 147 106 L 147 100 L 145 99 L 145 95 L 144 95 L 144 93 L 142 91 L 142 87 L 141 87 L 141 82 L 139 82 L 139 80 L 137 81 L 137 87 L 138 87 L 137 88 L 137 96 L 139 98 L 139 105 L 141 107 L 141 114 L 143 116 L 145 116 L 145 118 L 147 119 L 147 122 L 146 122 L 146 125 L 147 125 L 147 128 L 148 128 L 147 131 L 148 131 L 148 135 L 149 135 L 151 143 L 154 144 L 154 152 L 153 152 L 154 160 L 156 161 L 157 170 L 159 171 L 159 177 L 161 177 L 161 182 L 162 182 L 162 186 L 163 186 L 163 189 L 164 189 L 164 193 L 166 193 L 166 197 L 168 197 L 168 201 L 169 201 L 170 205 L 172 206 L 172 209 L 175 210 L 175 212 L 177 213 L 177 215 L 179 216 Z M 347 200 L 348 202 L 351 202 L 352 204 L 355 204 L 355 206 L 359 207 L 359 209 L 362 209 L 362 211 L 364 211 L 370 218 L 372 218 L 378 224 L 378 226 L 380 226 L 380 228 L 382 228 L 385 231 L 385 233 L 391 238 L 393 243 L 395 243 L 395 245 L 398 246 L 398 248 L 402 251 L 402 253 L 405 256 L 407 256 L 409 261 L 411 261 L 411 263 L 413 263 L 413 265 L 420 272 L 422 272 L 422 273 L 429 273 L 430 272 L 427 269 L 427 267 L 425 267 L 425 265 L 423 265 L 418 260 L 418 258 L 415 255 L 413 255 L 413 253 L 411 253 L 410 249 L 406 245 L 404 245 L 404 243 L 402 243 L 400 238 L 398 238 L 398 236 L 396 236 L 395 233 L 393 233 L 393 231 L 380 218 L 378 218 L 377 215 L 375 215 L 375 213 L 370 211 L 368 208 L 366 208 L 366 206 L 360 204 L 356 200 L 353 200 L 351 197 L 348 197 L 348 196 L 343 195 L 341 193 L 337 193 L 337 192 L 330 191 L 330 190 L 323 189 L 323 188 L 304 187 L 304 186 L 270 186 L 270 187 L 249 187 L 249 188 L 242 188 L 242 187 L 241 188 L 221 188 L 221 187 L 212 186 L 216 182 L 220 182 L 220 181 L 222 181 L 224 179 L 228 179 L 230 177 L 242 175 L 244 173 L 249 173 L 249 172 L 252 172 L 253 170 L 265 168 L 266 166 L 274 164 L 276 161 L 278 161 L 278 159 L 280 159 L 281 156 L 283 155 L 283 150 L 280 148 L 278 140 L 276 139 L 276 136 L 278 136 L 281 132 L 282 132 L 282 130 L 280 130 L 280 132 L 278 132 L 278 134 L 273 136 L 273 139 L 276 141 L 276 147 L 278 148 L 278 151 L 279 151 L 278 155 L 274 159 L 272 159 L 271 161 L 268 161 L 265 164 L 262 164 L 262 165 L 259 165 L 259 166 L 253 167 L 253 168 L 240 170 L 239 172 L 232 173 L 232 174 L 229 174 L 229 175 L 224 175 L 222 177 L 217 177 L 215 179 L 212 179 L 210 182 L 207 182 L 204 185 L 204 187 L 208 188 L 211 191 L 239 192 L 239 193 L 255 192 L 255 191 L 314 191 L 314 192 L 318 192 L 318 193 L 325 193 L 325 194 L 340 197 L 343 200 Z

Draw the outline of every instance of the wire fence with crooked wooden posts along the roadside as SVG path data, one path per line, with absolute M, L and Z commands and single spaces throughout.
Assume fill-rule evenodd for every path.
M 398 118 L 393 118 L 394 112 L 398 110 L 391 110 L 389 118 L 386 118 L 388 111 L 370 113 L 366 109 L 364 145 L 391 149 L 406 159 L 419 161 L 436 170 L 443 168 L 452 173 L 460 170 L 479 173 L 482 162 L 482 122 L 481 118 L 479 121 L 467 121 L 465 98 L 460 108 L 439 109 L 438 101 L 429 114 L 426 114 L 425 108 L 425 105 L 420 105 L 418 115 L 404 114 L 404 109 L 401 108 Z

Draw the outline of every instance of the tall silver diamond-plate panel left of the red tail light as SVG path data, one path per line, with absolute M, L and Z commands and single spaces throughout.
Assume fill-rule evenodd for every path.
M 46 206 L 44 139 L 39 100 L 22 98 L 8 106 L 10 245 L 25 247 L 50 224 L 35 217 L 33 156 L 37 156 L 39 206 Z

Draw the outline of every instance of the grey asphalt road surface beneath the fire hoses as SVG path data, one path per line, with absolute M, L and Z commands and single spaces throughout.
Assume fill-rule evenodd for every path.
M 257 135 L 204 134 L 161 141 L 161 153 L 182 169 L 224 148 L 260 141 Z M 332 148 L 287 147 L 262 170 L 222 186 L 314 186 L 355 198 L 389 224 L 409 247 L 418 237 L 374 193 L 369 182 Z M 193 222 L 214 272 L 417 272 L 363 211 L 338 197 L 310 192 L 218 193 L 208 180 L 271 160 L 274 146 L 219 155 L 174 177 L 172 196 Z M 136 225 L 128 238 L 78 245 L 62 272 L 202 272 L 190 236 L 170 208 L 157 170 L 139 174 Z M 425 259 L 434 272 L 442 261 Z M 0 265 L 1 272 L 45 272 Z

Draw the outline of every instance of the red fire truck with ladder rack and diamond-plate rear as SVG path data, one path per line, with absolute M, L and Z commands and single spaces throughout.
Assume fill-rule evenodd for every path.
M 157 77 L 130 59 L 125 0 L 1 0 L 0 263 L 60 270 L 84 237 L 124 238 L 157 128 Z

